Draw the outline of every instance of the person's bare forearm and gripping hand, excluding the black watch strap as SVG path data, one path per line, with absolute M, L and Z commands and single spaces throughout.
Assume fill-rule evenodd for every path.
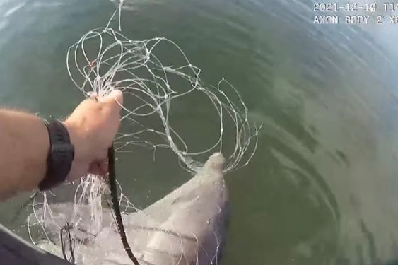
M 84 100 L 63 122 L 75 148 L 69 181 L 88 172 L 105 175 L 121 104 L 122 93 L 114 90 L 107 98 Z M 0 199 L 35 189 L 45 177 L 48 153 L 49 134 L 42 119 L 0 110 Z

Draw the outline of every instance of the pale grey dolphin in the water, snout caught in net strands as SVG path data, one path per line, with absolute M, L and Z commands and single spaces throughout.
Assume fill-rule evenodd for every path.
M 140 264 L 218 264 L 228 219 L 223 163 L 223 155 L 214 153 L 181 187 L 142 211 L 122 215 L 127 240 Z M 62 257 L 59 228 L 70 222 L 73 207 L 71 203 L 51 206 L 52 221 L 44 224 L 50 241 L 40 247 Z M 75 249 L 76 264 L 131 265 L 110 211 L 103 212 L 100 232 L 93 235 L 89 206 L 80 207 L 81 222 L 74 237 L 83 245 Z

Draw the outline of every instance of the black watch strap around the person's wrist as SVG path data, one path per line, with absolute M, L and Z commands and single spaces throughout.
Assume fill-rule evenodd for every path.
M 43 119 L 49 134 L 49 153 L 47 157 L 47 172 L 39 183 L 40 190 L 51 189 L 65 181 L 72 161 L 74 160 L 74 146 L 71 144 L 69 133 L 64 124 L 57 119 Z

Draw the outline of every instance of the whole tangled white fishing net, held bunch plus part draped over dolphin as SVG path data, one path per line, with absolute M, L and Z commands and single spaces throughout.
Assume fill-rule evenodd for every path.
M 121 11 L 122 2 L 110 22 L 104 28 L 96 28 L 83 35 L 68 49 L 66 58 L 71 80 L 86 97 L 93 93 L 104 96 L 114 89 L 122 90 L 123 132 L 115 139 L 115 150 L 134 151 L 136 147 L 144 147 L 149 148 L 155 155 L 160 148 L 165 148 L 175 153 L 180 165 L 192 175 L 203 172 L 204 162 L 213 153 L 223 153 L 226 156 L 221 174 L 247 165 L 256 150 L 260 128 L 249 123 L 247 107 L 238 91 L 224 79 L 219 81 L 217 86 L 204 86 L 199 76 L 200 69 L 192 65 L 182 49 L 171 40 L 164 37 L 130 40 L 122 35 Z M 118 30 L 111 27 L 112 20 L 119 21 Z M 172 56 L 164 57 L 162 54 Z M 185 100 L 189 96 L 191 99 Z M 201 110 L 213 113 L 209 119 L 218 131 L 216 139 L 209 146 L 195 146 L 201 147 L 202 150 L 189 148 L 185 136 L 179 134 L 171 122 L 175 114 L 173 107 L 177 110 L 187 108 L 187 105 L 195 105 L 195 102 L 199 102 L 197 105 Z M 208 105 L 204 106 L 205 103 Z M 235 144 L 232 144 L 234 142 Z M 218 157 L 213 155 L 213 158 Z M 53 192 L 43 192 L 41 198 L 35 198 L 33 214 L 28 217 L 28 230 L 32 242 L 59 257 L 64 257 L 72 264 L 131 264 L 131 261 L 127 263 L 125 257 L 115 254 L 115 248 L 122 249 L 122 245 L 120 242 L 112 241 L 112 235 L 117 229 L 110 211 L 112 206 L 107 183 L 100 177 L 88 175 L 81 182 L 71 183 L 69 186 L 74 191 L 74 199 L 70 203 L 52 204 L 52 198 L 57 195 Z M 157 228 L 157 225 L 160 227 L 161 218 L 158 217 L 158 210 L 152 208 L 151 211 L 141 211 L 127 199 L 121 187 L 119 193 L 119 206 L 122 208 L 127 228 L 129 225 L 135 225 L 135 228 L 139 227 L 141 230 L 149 226 L 152 230 Z M 169 199 L 172 199 L 171 197 Z M 168 211 L 162 207 L 159 206 L 161 211 Z M 187 208 L 187 211 L 190 209 Z M 129 216 L 133 215 L 134 218 L 129 219 Z M 169 216 L 172 216 L 172 213 Z M 171 225 L 174 228 L 175 224 Z M 199 225 L 213 225 L 211 231 L 216 235 L 213 248 L 217 254 L 221 242 L 217 238 L 215 225 L 211 220 Z M 163 227 L 158 229 L 168 232 L 170 237 L 181 239 L 178 241 L 180 244 L 170 243 L 175 248 L 170 255 L 178 256 L 172 258 L 172 264 L 188 264 L 185 257 L 187 250 L 184 250 L 183 246 L 185 241 L 182 239 L 186 235 L 179 234 L 177 228 L 167 231 Z M 155 264 L 144 257 L 144 252 L 155 252 L 153 245 L 148 243 L 146 246 L 151 247 L 144 249 L 140 245 L 141 242 L 136 242 L 129 231 L 131 230 L 127 230 L 127 239 L 131 243 L 131 250 L 138 253 L 136 256 L 140 264 Z M 199 235 L 189 236 L 196 239 L 197 244 L 201 242 Z M 134 234 L 134 237 L 139 239 L 144 238 L 144 235 Z M 112 253 L 116 256 L 110 257 L 111 252 L 95 252 L 95 247 L 89 247 L 95 240 L 100 240 L 100 250 L 114 249 Z M 98 245 L 96 246 L 98 248 Z M 204 247 L 198 246 L 198 249 L 199 253 Z M 120 255 L 126 256 L 125 253 Z M 196 255 L 199 264 L 199 254 Z M 110 262 L 111 259 L 113 263 Z M 217 260 L 215 257 L 209 259 Z M 167 261 L 163 262 L 169 264 Z

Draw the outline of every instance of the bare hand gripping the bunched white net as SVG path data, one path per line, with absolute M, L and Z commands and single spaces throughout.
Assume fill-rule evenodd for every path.
M 112 90 L 105 98 L 84 100 L 66 119 L 64 124 L 75 147 L 67 180 L 74 181 L 88 173 L 107 174 L 107 149 L 119 129 L 122 104 L 122 92 Z

